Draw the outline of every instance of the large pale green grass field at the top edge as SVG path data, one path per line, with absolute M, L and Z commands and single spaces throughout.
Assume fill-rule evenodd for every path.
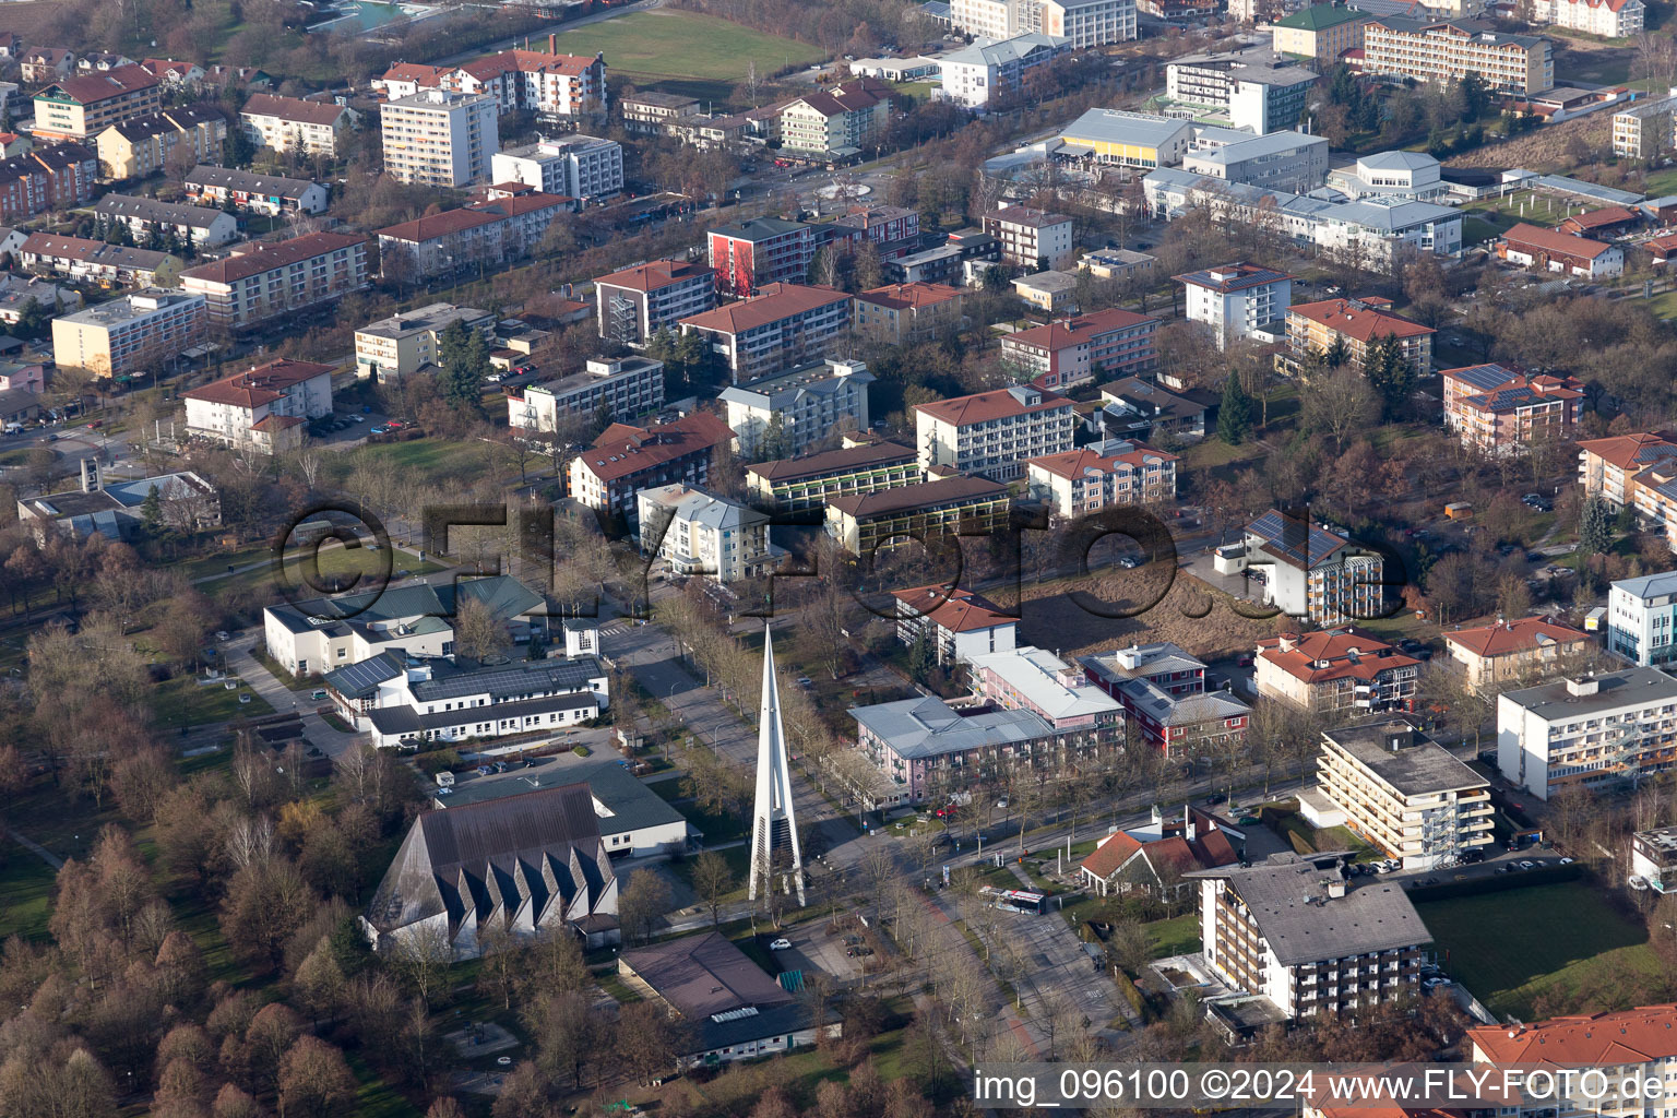
M 751 62 L 758 77 L 768 77 L 823 59 L 820 49 L 807 44 L 674 10 L 634 12 L 563 32 L 558 49 L 580 55 L 604 50 L 614 74 L 657 85 L 681 79 L 740 82 Z

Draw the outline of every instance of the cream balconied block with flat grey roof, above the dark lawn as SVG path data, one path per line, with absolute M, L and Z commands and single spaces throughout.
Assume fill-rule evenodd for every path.
M 1323 731 L 1316 791 L 1405 870 L 1491 845 L 1491 781 L 1407 719 Z

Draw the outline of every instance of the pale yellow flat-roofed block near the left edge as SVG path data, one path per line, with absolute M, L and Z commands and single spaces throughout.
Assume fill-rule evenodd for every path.
M 52 320 L 52 359 L 96 377 L 156 375 L 206 337 L 201 295 L 144 288 Z

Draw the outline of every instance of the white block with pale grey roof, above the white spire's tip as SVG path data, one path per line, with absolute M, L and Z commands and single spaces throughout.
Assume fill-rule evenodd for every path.
M 756 578 L 780 550 L 768 541 L 768 513 L 689 484 L 641 489 L 641 553 L 678 575 L 728 585 Z

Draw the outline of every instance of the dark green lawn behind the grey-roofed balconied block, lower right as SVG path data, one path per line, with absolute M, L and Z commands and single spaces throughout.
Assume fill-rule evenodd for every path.
M 1610 970 L 1660 964 L 1647 934 L 1583 882 L 1415 903 L 1446 970 L 1494 1014 L 1529 1019 L 1548 989 L 1578 991 Z

